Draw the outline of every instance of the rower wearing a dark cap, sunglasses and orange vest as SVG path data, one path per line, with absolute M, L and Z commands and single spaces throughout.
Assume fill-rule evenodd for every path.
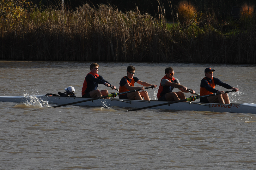
M 204 96 L 212 93 L 221 93 L 221 94 L 216 96 L 200 98 L 200 102 L 230 104 L 228 94 L 224 93 L 224 91 L 216 90 L 215 86 L 219 85 L 227 89 L 235 90 L 235 92 L 239 91 L 239 88 L 234 88 L 226 83 L 221 82 L 220 79 L 213 77 L 213 71 L 215 70 L 209 67 L 204 70 L 205 77 L 201 80 L 200 96 Z

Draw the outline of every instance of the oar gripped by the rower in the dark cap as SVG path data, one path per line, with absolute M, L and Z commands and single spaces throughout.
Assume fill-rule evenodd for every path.
M 226 91 L 224 93 L 229 93 L 229 92 L 234 92 L 235 90 L 232 91 Z M 204 95 L 204 96 L 196 96 L 196 97 L 190 97 L 190 98 L 186 98 L 183 100 L 176 100 L 173 102 L 168 102 L 168 103 L 162 103 L 162 104 L 158 104 L 158 105 L 153 105 L 153 106 L 147 106 L 147 107 L 142 107 L 142 108 L 137 108 L 137 109 L 131 109 L 131 110 L 126 110 L 126 111 L 135 111 L 135 110 L 142 110 L 142 109 L 148 109 L 151 107 L 157 107 L 157 106 L 163 106 L 163 105 L 170 105 L 170 104 L 174 104 L 174 103 L 179 103 L 179 102 L 184 102 L 184 101 L 194 101 L 195 99 L 199 99 L 199 98 L 204 98 L 204 97 L 209 97 L 209 96 L 215 96 L 221 93 L 212 93 L 212 94 L 208 94 L 208 95 Z

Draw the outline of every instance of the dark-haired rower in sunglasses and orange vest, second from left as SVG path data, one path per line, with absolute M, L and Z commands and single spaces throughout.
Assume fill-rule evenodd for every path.
M 134 77 L 134 74 L 135 74 L 134 66 L 131 66 L 131 65 L 128 66 L 126 69 L 126 72 L 127 72 L 127 75 L 124 76 L 119 83 L 119 85 L 120 85 L 119 93 L 136 90 L 136 89 L 141 89 L 142 91 L 121 94 L 121 95 L 119 95 L 119 99 L 143 100 L 142 98 L 144 97 L 144 100 L 150 100 L 148 92 L 144 91 L 145 88 L 144 87 L 134 87 L 134 83 L 137 82 L 138 84 L 143 85 L 145 87 L 154 86 L 154 88 L 156 88 L 157 85 L 143 82 L 143 81 L 139 80 L 137 77 Z

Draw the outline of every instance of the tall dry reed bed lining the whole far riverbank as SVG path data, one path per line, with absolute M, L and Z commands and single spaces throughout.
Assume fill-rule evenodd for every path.
M 256 64 L 254 27 L 228 37 L 210 25 L 167 30 L 164 15 L 84 4 L 1 17 L 0 59 Z

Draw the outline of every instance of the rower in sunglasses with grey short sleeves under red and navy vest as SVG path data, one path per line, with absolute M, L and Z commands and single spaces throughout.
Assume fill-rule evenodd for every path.
M 180 92 L 173 92 L 174 88 L 179 88 Z M 186 99 L 184 93 L 189 91 L 185 86 L 180 85 L 177 78 L 174 78 L 174 70 L 172 67 L 167 67 L 165 69 L 165 76 L 160 82 L 160 86 L 157 93 L 157 98 L 159 101 L 176 101 Z M 192 90 L 195 93 L 194 90 Z

